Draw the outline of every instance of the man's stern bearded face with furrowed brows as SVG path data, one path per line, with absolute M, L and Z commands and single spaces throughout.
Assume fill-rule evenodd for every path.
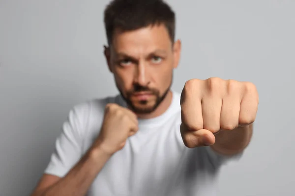
M 138 114 L 154 111 L 170 90 L 180 41 L 171 42 L 164 25 L 115 31 L 105 51 L 109 69 L 128 106 Z

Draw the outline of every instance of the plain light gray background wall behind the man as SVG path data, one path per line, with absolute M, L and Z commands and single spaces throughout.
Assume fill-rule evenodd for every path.
M 117 94 L 103 57 L 109 0 L 0 0 L 0 195 L 29 195 L 73 105 Z M 191 78 L 251 81 L 251 145 L 222 169 L 220 196 L 294 196 L 294 0 L 169 0 Z

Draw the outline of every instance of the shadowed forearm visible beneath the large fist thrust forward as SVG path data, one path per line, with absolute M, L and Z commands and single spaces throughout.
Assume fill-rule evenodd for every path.
M 253 124 L 237 127 L 231 131 L 220 131 L 215 135 L 211 148 L 221 154 L 233 155 L 245 149 L 251 141 Z

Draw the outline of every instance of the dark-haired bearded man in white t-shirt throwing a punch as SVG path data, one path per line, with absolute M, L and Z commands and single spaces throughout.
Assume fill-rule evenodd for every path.
M 169 5 L 113 0 L 104 17 L 120 94 L 74 107 L 32 195 L 215 196 L 220 166 L 250 142 L 255 86 L 190 79 L 180 96 L 170 90 L 181 44 Z

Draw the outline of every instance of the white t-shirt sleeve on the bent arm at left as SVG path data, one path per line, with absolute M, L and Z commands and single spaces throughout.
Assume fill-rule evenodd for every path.
M 83 135 L 87 125 L 85 108 L 86 105 L 80 105 L 69 112 L 45 173 L 63 177 L 82 157 Z

